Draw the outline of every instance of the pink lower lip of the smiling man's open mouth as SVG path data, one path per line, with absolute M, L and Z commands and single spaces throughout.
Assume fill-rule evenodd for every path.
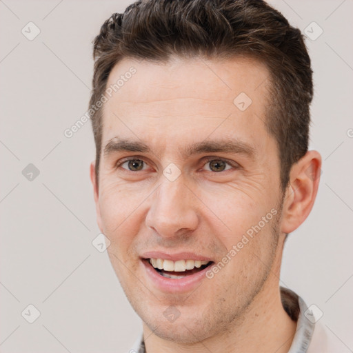
M 161 292 L 167 293 L 181 293 L 181 292 L 190 292 L 197 285 L 206 278 L 205 274 L 210 269 L 212 265 L 209 265 L 207 268 L 190 274 L 183 277 L 182 279 L 168 279 L 167 277 L 161 276 L 148 261 L 141 261 L 145 268 L 145 272 L 149 279 L 152 280 L 152 283 L 161 290 Z M 177 274 L 178 272 L 176 272 Z

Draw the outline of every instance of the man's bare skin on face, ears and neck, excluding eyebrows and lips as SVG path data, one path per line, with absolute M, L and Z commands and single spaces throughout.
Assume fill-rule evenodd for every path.
M 99 183 L 94 163 L 90 176 L 97 222 L 111 241 L 108 254 L 123 290 L 143 320 L 147 352 L 288 352 L 296 323 L 281 305 L 283 243 L 312 209 L 320 154 L 307 152 L 293 165 L 283 194 L 278 146 L 264 125 L 269 72 L 259 62 L 124 59 L 107 87 L 131 66 L 137 73 L 104 105 Z M 233 103 L 240 92 L 252 99 L 243 112 Z M 143 141 L 152 152 L 104 154 L 114 137 Z M 243 141 L 254 154 L 185 158 L 180 152 L 225 138 Z M 143 160 L 143 170 L 117 167 L 126 157 Z M 206 157 L 233 165 L 214 171 Z M 181 172 L 175 181 L 163 175 L 170 163 Z M 144 251 L 190 251 L 218 263 L 272 209 L 276 216 L 193 292 L 162 292 L 146 276 Z M 163 316 L 171 305 L 180 312 L 174 322 Z

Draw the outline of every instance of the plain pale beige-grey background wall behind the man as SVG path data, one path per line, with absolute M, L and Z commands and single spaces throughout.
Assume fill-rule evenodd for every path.
M 88 108 L 92 39 L 129 3 L 0 1 L 0 352 L 126 352 L 141 330 L 106 252 L 92 246 L 90 122 L 63 134 Z M 271 3 L 301 30 L 323 29 L 307 39 L 323 174 L 312 214 L 286 244 L 281 285 L 317 305 L 341 352 L 352 352 L 353 2 Z M 35 33 L 30 21 L 40 30 L 32 41 L 21 32 Z M 32 181 L 29 163 L 40 173 Z M 32 324 L 21 316 L 30 304 L 41 313 Z

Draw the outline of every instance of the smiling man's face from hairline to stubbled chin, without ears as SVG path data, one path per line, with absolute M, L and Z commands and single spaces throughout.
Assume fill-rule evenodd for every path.
M 269 72 L 250 59 L 124 59 L 107 88 L 132 66 L 104 105 L 99 227 L 150 330 L 199 341 L 239 322 L 279 268 L 280 167 L 264 124 Z

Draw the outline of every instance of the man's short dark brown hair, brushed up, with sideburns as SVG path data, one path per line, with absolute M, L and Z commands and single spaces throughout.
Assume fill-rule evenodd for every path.
M 142 0 L 114 13 L 94 39 L 90 106 L 105 92 L 109 74 L 121 59 L 168 62 L 185 58 L 232 59 L 245 55 L 270 70 L 265 125 L 281 161 L 281 186 L 307 152 L 312 70 L 303 35 L 262 0 Z M 92 111 L 96 176 L 101 156 L 102 110 Z

